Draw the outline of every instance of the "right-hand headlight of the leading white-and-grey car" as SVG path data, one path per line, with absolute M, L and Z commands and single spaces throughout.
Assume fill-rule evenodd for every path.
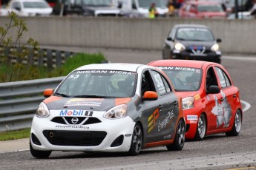
M 127 105 L 122 104 L 119 106 L 115 106 L 112 109 L 109 109 L 108 112 L 105 113 L 104 117 L 108 119 L 125 118 L 126 112 L 127 112 Z

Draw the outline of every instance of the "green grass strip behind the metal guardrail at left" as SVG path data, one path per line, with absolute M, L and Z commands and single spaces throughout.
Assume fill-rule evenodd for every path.
M 12 67 L 9 67 L 7 64 L 0 63 L 0 83 L 66 76 L 77 67 L 87 64 L 100 64 L 105 60 L 102 53 L 77 53 L 68 58 L 61 67 L 52 71 L 48 71 L 46 67 L 27 67 L 24 64 L 13 64 Z

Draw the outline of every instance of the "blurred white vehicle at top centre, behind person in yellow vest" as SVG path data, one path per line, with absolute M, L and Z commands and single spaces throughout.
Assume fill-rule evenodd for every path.
M 166 0 L 120 0 L 119 8 L 122 16 L 148 18 L 148 10 L 153 2 L 155 3 L 155 7 L 159 13 L 158 16 L 165 16 L 165 13 L 168 12 Z

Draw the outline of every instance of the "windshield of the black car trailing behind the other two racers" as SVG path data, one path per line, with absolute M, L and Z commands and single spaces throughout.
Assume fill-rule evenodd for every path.
M 211 31 L 206 28 L 180 28 L 176 38 L 183 41 L 214 41 Z

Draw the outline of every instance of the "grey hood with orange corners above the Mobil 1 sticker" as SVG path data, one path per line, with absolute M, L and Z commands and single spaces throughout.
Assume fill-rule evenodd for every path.
M 50 96 L 45 99 L 49 110 L 91 110 L 106 112 L 114 106 L 128 103 L 131 98 L 60 98 Z

